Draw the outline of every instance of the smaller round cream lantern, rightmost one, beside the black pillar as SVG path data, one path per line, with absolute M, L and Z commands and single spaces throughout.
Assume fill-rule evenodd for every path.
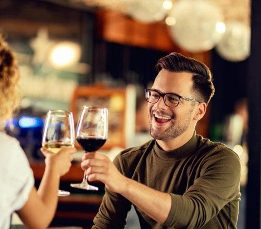
M 226 32 L 216 46 L 216 51 L 225 60 L 243 61 L 250 55 L 250 26 L 239 22 L 226 23 Z

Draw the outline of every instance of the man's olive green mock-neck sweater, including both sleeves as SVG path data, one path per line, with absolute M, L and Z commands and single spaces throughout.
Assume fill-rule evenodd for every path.
M 166 152 L 151 140 L 124 150 L 114 164 L 124 176 L 171 195 L 164 225 L 134 206 L 142 229 L 236 228 L 240 161 L 225 145 L 194 134 L 185 145 Z M 127 199 L 106 190 L 93 229 L 124 228 L 130 208 Z

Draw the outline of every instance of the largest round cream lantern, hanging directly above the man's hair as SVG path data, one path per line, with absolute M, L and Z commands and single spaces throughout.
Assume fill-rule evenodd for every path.
M 180 0 L 168 18 L 175 22 L 169 26 L 175 43 L 191 52 L 212 49 L 226 28 L 219 8 L 206 0 Z

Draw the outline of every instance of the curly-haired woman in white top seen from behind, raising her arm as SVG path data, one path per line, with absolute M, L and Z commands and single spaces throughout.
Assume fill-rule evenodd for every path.
M 19 102 L 18 66 L 8 45 L 0 36 L 0 228 L 10 227 L 11 215 L 16 211 L 27 228 L 47 228 L 57 202 L 60 177 L 71 167 L 71 153 L 75 148 L 62 149 L 46 156 L 46 168 L 39 189 L 28 160 L 19 142 L 3 132 L 5 120 L 10 118 Z

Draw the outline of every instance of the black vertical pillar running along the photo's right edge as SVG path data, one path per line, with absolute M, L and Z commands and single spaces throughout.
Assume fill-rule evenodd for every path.
M 249 161 L 246 228 L 261 229 L 261 1 L 251 6 L 251 55 L 248 66 Z

